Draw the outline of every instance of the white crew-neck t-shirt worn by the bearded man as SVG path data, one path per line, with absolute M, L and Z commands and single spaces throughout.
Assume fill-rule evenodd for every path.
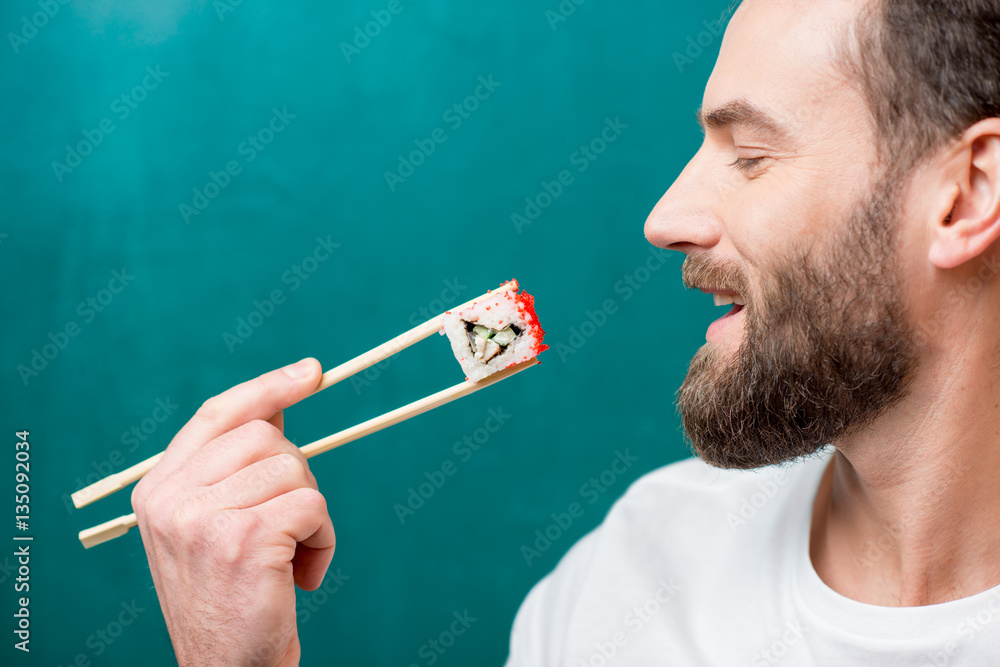
M 643 476 L 532 588 L 507 667 L 1000 666 L 1000 586 L 880 607 L 819 578 L 809 526 L 831 454 Z M 883 555 L 872 544 L 861 558 Z

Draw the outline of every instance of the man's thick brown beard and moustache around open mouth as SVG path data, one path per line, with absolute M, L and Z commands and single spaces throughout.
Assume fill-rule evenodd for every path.
M 689 256 L 684 283 L 737 289 L 745 336 L 735 358 L 706 344 L 677 407 L 695 453 L 756 468 L 816 452 L 902 398 L 916 366 L 895 239 L 897 197 L 882 181 L 835 238 L 798 248 L 758 297 L 737 266 Z

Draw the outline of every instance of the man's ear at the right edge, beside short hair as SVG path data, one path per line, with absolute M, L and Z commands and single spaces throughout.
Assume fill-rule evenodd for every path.
M 949 186 L 930 229 L 928 259 L 953 269 L 1000 238 L 1000 118 L 980 121 L 949 151 Z

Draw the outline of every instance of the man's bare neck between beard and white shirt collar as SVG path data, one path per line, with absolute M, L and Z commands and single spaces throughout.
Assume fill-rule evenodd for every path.
M 810 555 L 838 593 L 917 606 L 1000 585 L 1000 374 L 975 356 L 924 366 L 903 401 L 835 443 Z

